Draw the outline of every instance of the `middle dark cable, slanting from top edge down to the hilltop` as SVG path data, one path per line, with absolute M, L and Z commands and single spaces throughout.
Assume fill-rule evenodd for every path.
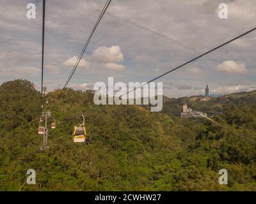
M 92 29 L 92 32 L 90 33 L 90 36 L 88 37 L 88 40 L 87 40 L 86 43 L 84 44 L 84 47 L 83 47 L 83 50 L 81 51 L 81 54 L 79 55 L 79 57 L 78 57 L 76 63 L 74 64 L 74 67 L 73 67 L 72 71 L 70 72 L 70 75 L 68 76 L 65 85 L 64 85 L 63 88 L 61 89 L 60 96 L 58 97 L 58 99 L 61 98 L 61 95 L 62 95 L 62 93 L 63 93 L 63 90 L 67 87 L 68 83 L 70 82 L 70 79 L 71 79 L 72 76 L 74 75 L 74 72 L 76 71 L 76 68 L 77 68 L 79 62 L 81 61 L 81 58 L 83 57 L 83 54 L 84 54 L 86 48 L 88 47 L 88 44 L 90 43 L 90 40 L 91 40 L 91 38 L 92 38 L 92 36 L 93 36 L 93 33 L 95 32 L 95 29 L 96 29 L 97 26 L 99 25 L 99 22 L 100 22 L 100 20 L 102 19 L 102 17 L 103 17 L 103 15 L 104 15 L 104 13 L 106 12 L 106 10 L 108 9 L 108 6 L 109 6 L 109 4 L 111 3 L 111 1 L 112 1 L 112 0 L 107 0 L 106 4 L 104 5 L 104 8 L 102 9 L 102 11 L 101 11 L 101 13 L 100 13 L 100 15 L 99 15 L 99 18 L 98 18 L 96 24 L 94 25 L 94 27 L 93 27 L 93 29 Z

